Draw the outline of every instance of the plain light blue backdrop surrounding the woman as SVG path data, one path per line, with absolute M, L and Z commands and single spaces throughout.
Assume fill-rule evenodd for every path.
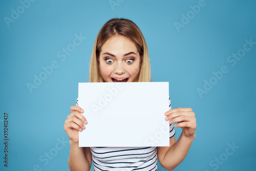
M 190 107 L 196 114 L 196 139 L 175 170 L 252 170 L 256 45 L 234 66 L 227 59 L 243 49 L 245 39 L 256 41 L 256 2 L 205 0 L 193 16 L 189 6 L 198 3 L 119 1 L 113 9 L 109 1 L 35 1 L 22 11 L 19 1 L 2 1 L 0 169 L 32 170 L 39 165 L 42 170 L 69 170 L 65 143 L 69 138 L 63 124 L 76 103 L 78 82 L 89 81 L 90 57 L 100 28 L 113 17 L 124 17 L 141 29 L 153 81 L 169 82 L 173 108 Z M 11 18 L 12 9 L 21 14 L 7 24 L 4 18 Z M 177 29 L 174 23 L 182 24 L 182 14 L 187 13 L 189 23 Z M 75 34 L 87 38 L 61 61 L 57 52 L 73 44 Z M 34 75 L 54 60 L 58 67 L 31 93 L 27 83 L 33 83 Z M 222 66 L 228 72 L 200 96 L 197 89 L 204 89 L 205 80 L 214 81 L 212 72 Z M 8 168 L 3 163 L 4 112 L 9 114 Z M 177 140 L 181 129 L 176 132 Z M 65 146 L 59 145 L 59 139 Z M 228 143 L 237 146 L 232 155 L 226 154 Z M 56 150 L 56 144 L 62 149 Z M 50 151 L 57 153 L 48 163 L 40 161 Z M 165 169 L 158 163 L 158 170 Z

